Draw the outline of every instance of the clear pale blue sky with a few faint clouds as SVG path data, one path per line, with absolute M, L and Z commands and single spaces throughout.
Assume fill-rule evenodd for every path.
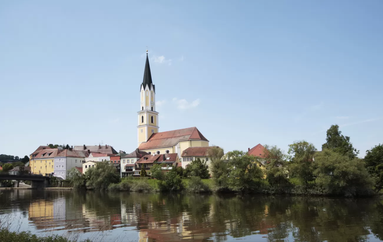
M 159 131 L 197 127 L 226 151 L 338 124 L 383 143 L 383 2 L 1 1 L 0 154 L 137 148 L 146 48 Z M 147 46 L 147 47 L 146 47 Z

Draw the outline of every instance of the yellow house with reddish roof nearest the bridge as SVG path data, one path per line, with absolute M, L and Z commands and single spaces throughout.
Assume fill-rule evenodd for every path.
M 61 149 L 42 149 L 29 162 L 33 174 L 49 174 L 54 172 L 54 157 Z

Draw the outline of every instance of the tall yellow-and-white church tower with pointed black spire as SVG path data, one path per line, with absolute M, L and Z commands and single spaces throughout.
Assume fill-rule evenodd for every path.
M 152 83 L 149 58 L 146 50 L 144 80 L 140 87 L 141 105 L 138 113 L 138 146 L 146 142 L 153 133 L 158 133 L 158 112 L 155 112 L 155 86 Z

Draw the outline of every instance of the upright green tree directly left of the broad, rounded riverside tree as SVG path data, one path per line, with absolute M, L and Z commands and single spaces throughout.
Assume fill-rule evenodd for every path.
M 305 140 L 294 142 L 289 145 L 288 154 L 290 155 L 289 172 L 292 176 L 297 177 L 300 181 L 307 186 L 313 177 L 313 155 L 316 148 L 312 143 Z

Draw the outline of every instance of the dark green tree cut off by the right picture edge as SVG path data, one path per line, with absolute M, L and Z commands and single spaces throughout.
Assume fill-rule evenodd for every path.
M 364 157 L 367 171 L 376 179 L 375 189 L 383 189 L 383 144 L 375 145 L 366 151 Z

